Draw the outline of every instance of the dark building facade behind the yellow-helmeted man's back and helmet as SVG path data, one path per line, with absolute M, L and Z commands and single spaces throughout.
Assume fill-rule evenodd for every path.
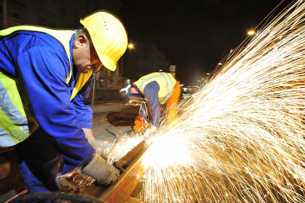
M 82 27 L 79 22 L 81 18 L 98 9 L 109 10 L 120 17 L 122 6 L 119 0 L 0 0 L 0 28 L 2 30 L 16 25 L 39 25 L 77 29 Z M 103 66 L 100 72 L 122 74 L 120 60 L 115 71 Z

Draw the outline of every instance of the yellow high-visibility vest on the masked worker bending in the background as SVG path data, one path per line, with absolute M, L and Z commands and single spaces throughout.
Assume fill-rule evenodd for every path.
M 145 86 L 152 81 L 156 81 L 159 84 L 159 102 L 164 104 L 173 92 L 176 79 L 170 73 L 151 73 L 143 76 L 138 81 L 134 82 L 134 84 L 137 85 L 138 89 L 143 93 Z

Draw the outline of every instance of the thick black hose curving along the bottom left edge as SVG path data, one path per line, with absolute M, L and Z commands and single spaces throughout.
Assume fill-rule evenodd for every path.
M 68 201 L 77 201 L 77 202 L 87 202 L 87 203 L 107 203 L 93 197 L 89 197 L 82 194 L 74 193 L 65 193 L 65 192 L 42 192 L 42 193 L 32 193 L 20 195 L 8 203 L 18 203 L 21 201 L 42 201 L 42 200 L 52 200 L 52 199 L 61 199 Z

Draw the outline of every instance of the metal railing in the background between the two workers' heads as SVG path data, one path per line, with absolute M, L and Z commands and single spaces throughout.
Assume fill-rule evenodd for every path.
M 101 89 L 120 89 L 122 85 L 127 83 L 128 78 L 122 78 L 115 75 L 108 75 L 104 73 L 99 73 L 96 75 L 95 79 L 95 88 Z M 130 83 L 135 82 L 136 80 L 130 80 Z M 93 81 L 91 83 L 93 87 Z

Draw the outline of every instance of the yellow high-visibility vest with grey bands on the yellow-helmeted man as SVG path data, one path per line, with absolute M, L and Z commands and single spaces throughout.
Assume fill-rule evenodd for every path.
M 70 40 L 75 33 L 70 30 L 52 30 L 44 27 L 16 26 L 0 31 L 0 36 L 6 36 L 18 31 L 36 31 L 50 35 L 64 48 L 69 60 L 69 74 L 66 83 L 70 82 L 72 69 L 70 64 Z M 92 71 L 79 74 L 74 84 L 70 100 L 91 77 Z M 0 70 L 0 147 L 13 146 L 27 139 L 39 126 L 30 104 L 24 95 L 19 80 Z

